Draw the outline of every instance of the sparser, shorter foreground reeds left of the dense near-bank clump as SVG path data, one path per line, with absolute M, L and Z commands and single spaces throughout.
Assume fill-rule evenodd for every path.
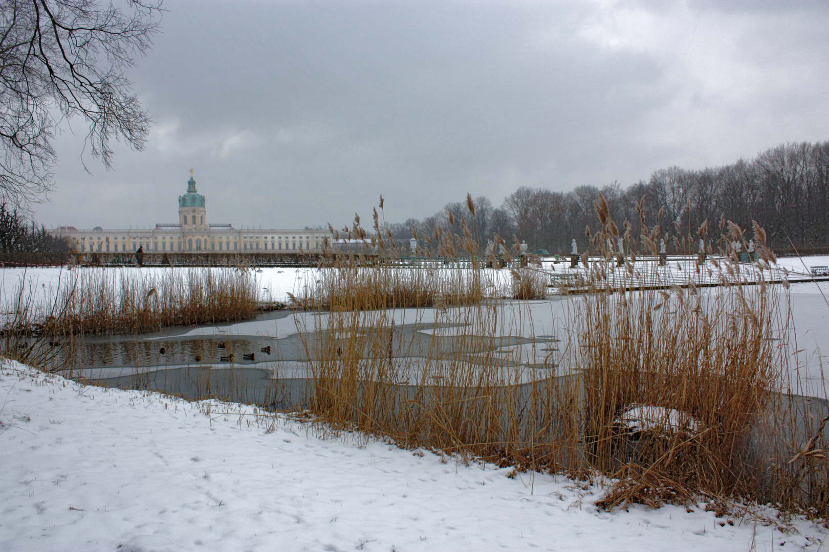
M 468 324 L 470 332 L 496 326 L 503 314 L 481 305 L 456 312 L 453 323 Z M 405 340 L 389 311 L 332 313 L 320 324 L 306 343 L 315 379 L 310 404 L 335 427 L 462 456 L 500 457 L 516 442 L 526 448 L 531 425 L 516 401 L 545 396 L 546 382 L 502 367 L 492 353 L 502 337 L 434 333 L 418 344 Z M 516 386 L 527 396 L 519 397 Z

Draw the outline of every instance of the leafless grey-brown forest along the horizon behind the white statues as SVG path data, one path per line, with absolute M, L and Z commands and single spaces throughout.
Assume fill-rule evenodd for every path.
M 683 237 L 696 236 L 706 219 L 712 230 L 717 228 L 721 217 L 744 229 L 756 220 L 766 229 L 768 245 L 778 250 L 792 245 L 803 252 L 829 248 L 829 142 L 781 145 L 748 161 L 702 170 L 671 166 L 655 171 L 647 182 L 640 180 L 626 188 L 585 185 L 555 192 L 522 186 L 499 207 L 486 197 L 470 197 L 446 204 L 424 220 L 410 218 L 387 228 L 399 247 L 408 243 L 413 230 L 419 237 L 431 238 L 440 226 L 463 236 L 462 224 L 466 223 L 481 247 L 497 233 L 507 242 L 513 237 L 526 240 L 531 251 L 569 253 L 573 238 L 583 250 L 588 243 L 585 229 L 599 227 L 594 209 L 599 194 L 620 228 L 625 220 L 630 221 L 634 239 L 640 230 L 640 204 L 647 225 L 653 228 L 658 223 L 660 235 L 676 238 L 666 240 L 673 251 L 696 252 L 692 240 L 684 246 L 677 244 L 683 243 Z

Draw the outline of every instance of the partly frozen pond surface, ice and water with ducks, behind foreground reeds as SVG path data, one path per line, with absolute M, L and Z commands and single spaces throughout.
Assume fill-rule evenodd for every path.
M 303 390 L 295 387 L 304 389 L 313 378 L 309 349 L 327 340 L 353 342 L 382 331 L 373 325 L 380 317 L 382 328 L 389 332 L 382 354 L 388 356 L 395 382 L 401 385 L 439 385 L 442 374 L 457 362 L 490 372 L 514 372 L 511 382 L 529 382 L 561 373 L 561 340 L 554 334 L 553 313 L 564 302 L 556 298 L 531 305 L 519 301 L 482 305 L 479 310 L 486 315 L 497 309 L 494 334 L 492 328 L 482 328 L 482 318 L 470 319 L 465 309 L 361 313 L 365 331 L 360 334 L 332 329 L 331 314 L 284 310 L 234 324 L 78 338 L 72 347 L 59 346 L 56 364 L 68 363 L 76 367 L 75 377 L 107 385 L 283 404 L 288 401 L 284 396 L 300 396 Z M 538 311 L 536 319 L 531 308 Z M 485 332 L 489 338 L 470 342 L 470 336 Z M 369 339 L 365 347 L 358 345 L 358 356 L 375 358 L 376 353 L 368 350 L 374 343 Z

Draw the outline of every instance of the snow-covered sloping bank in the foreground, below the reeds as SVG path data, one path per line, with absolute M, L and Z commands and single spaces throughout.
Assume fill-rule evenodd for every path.
M 608 513 L 589 483 L 16 362 L 0 408 L 0 550 L 819 550 L 827 532 L 703 505 Z

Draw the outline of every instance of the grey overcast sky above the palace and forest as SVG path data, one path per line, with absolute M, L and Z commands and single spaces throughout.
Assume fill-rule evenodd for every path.
M 629 185 L 829 140 L 829 2 L 166 0 L 113 170 L 56 140 L 50 225 L 424 218 L 469 192 Z M 83 170 L 81 156 L 92 174 Z

